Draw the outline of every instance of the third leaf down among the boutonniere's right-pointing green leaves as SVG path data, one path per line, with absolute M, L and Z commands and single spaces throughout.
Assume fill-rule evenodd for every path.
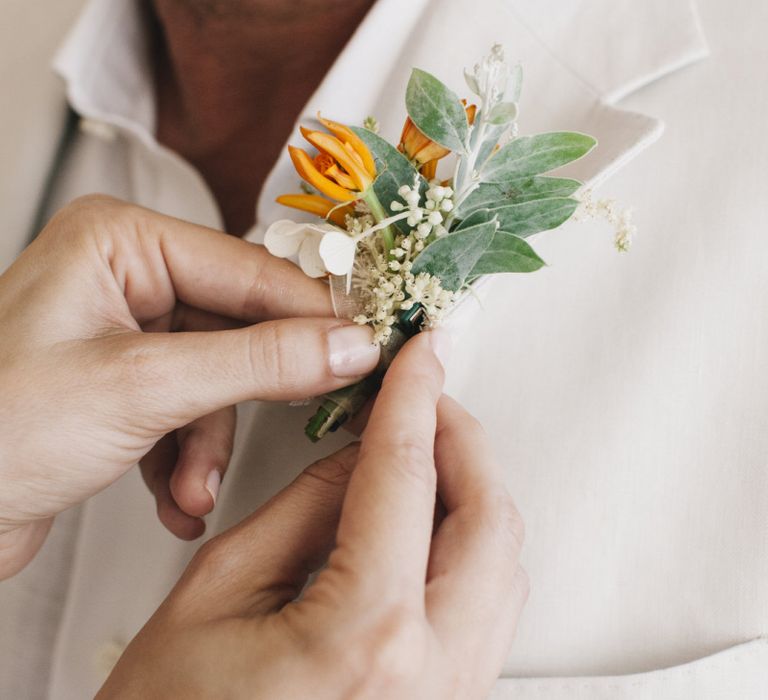
M 571 217 L 578 204 L 570 197 L 550 197 L 502 207 L 477 209 L 464 219 L 456 230 L 474 228 L 496 219 L 500 230 L 527 238 L 534 233 L 557 228 Z

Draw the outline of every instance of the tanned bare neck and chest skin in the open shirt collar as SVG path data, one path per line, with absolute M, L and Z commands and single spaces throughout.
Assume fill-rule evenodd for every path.
M 200 171 L 229 233 L 253 225 L 295 120 L 373 2 L 151 0 L 158 140 Z

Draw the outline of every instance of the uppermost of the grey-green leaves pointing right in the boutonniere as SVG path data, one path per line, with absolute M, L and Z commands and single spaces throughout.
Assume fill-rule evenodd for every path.
M 521 136 L 491 156 L 480 176 L 483 182 L 509 182 L 541 175 L 578 160 L 596 143 L 591 136 L 571 131 Z

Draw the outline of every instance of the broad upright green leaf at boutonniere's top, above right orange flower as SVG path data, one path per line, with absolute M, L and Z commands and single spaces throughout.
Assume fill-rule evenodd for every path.
M 464 106 L 434 75 L 414 68 L 405 91 L 405 106 L 425 136 L 452 151 L 465 150 L 469 125 Z

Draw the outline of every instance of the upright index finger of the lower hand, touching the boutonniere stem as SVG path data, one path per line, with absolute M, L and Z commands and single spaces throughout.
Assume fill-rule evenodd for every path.
M 437 402 L 444 379 L 436 351 L 447 343 L 443 331 L 431 331 L 404 346 L 363 433 L 336 557 L 347 557 L 343 566 L 355 572 L 365 597 L 407 593 L 424 599 L 435 507 Z

